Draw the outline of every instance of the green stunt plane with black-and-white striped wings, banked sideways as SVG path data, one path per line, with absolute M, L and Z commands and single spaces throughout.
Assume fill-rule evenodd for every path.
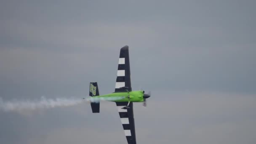
M 143 102 L 143 106 L 147 107 L 146 99 L 150 97 L 150 93 L 146 94 L 144 91 L 132 91 L 131 89 L 129 47 L 127 45 L 120 50 L 115 92 L 99 95 L 97 82 L 91 82 L 89 96 L 91 96 L 89 101 L 93 113 L 99 113 L 100 100 L 116 103 L 127 142 L 136 144 L 133 102 Z

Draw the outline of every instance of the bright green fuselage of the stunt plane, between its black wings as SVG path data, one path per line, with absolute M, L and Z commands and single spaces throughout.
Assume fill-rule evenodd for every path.
M 93 96 L 93 98 L 113 98 L 115 100 L 107 100 L 107 101 L 114 101 L 114 102 L 143 102 L 143 91 L 130 91 L 130 92 L 115 92 L 109 93 L 106 95 L 100 96 Z

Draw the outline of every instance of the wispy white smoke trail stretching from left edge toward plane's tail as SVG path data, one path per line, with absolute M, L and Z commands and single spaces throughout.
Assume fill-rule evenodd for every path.
M 78 98 L 56 98 L 56 99 L 45 99 L 42 97 L 40 100 L 31 101 L 3 101 L 0 98 L 0 110 L 5 112 L 16 111 L 21 112 L 24 110 L 36 110 L 36 109 L 48 109 L 54 107 L 67 107 L 82 103 L 82 99 Z

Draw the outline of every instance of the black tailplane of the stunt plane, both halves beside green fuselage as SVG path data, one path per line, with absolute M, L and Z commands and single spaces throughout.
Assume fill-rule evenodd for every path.
M 99 88 L 97 82 L 90 83 L 89 96 L 99 96 Z M 99 103 L 91 102 L 91 109 L 93 113 L 99 113 Z

